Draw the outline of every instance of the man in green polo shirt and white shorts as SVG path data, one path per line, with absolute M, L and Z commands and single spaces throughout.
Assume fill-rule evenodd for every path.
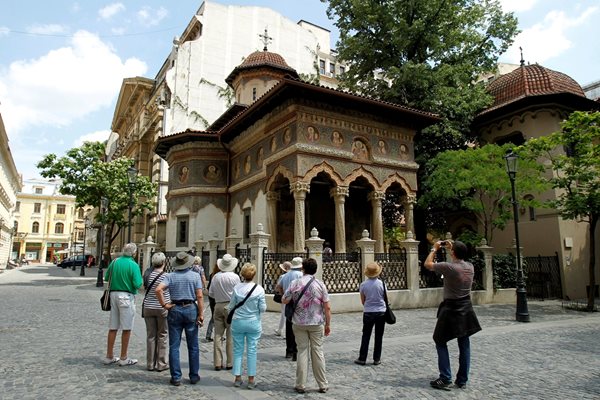
M 135 319 L 135 295 L 142 286 L 143 279 L 140 266 L 133 259 L 137 252 L 135 243 L 127 243 L 123 247 L 123 255 L 113 260 L 104 279 L 110 285 L 110 319 L 108 320 L 108 340 L 104 364 L 118 363 L 120 366 L 137 364 L 137 360 L 127 356 L 129 338 Z M 121 329 L 121 357 L 115 357 L 113 348 L 117 331 Z

